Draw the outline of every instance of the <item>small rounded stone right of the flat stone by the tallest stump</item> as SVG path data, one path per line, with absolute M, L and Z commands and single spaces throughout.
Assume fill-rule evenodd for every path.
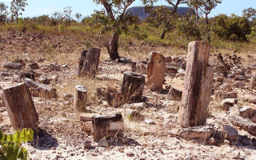
M 230 142 L 235 142 L 238 139 L 238 130 L 232 126 L 225 125 L 223 126 L 222 135 Z

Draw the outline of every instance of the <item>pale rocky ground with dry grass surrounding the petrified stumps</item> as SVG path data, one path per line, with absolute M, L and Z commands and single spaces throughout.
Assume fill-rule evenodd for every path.
M 214 126 L 214 130 L 219 131 L 222 131 L 225 125 L 232 126 L 234 130 L 238 130 L 235 140 L 222 139 L 217 143 L 212 142 L 212 138 L 204 141 L 185 140 L 177 134 L 176 120 L 180 99 L 174 99 L 168 93 L 171 86 L 182 89 L 184 70 L 179 69 L 186 66 L 186 55 L 184 55 L 172 56 L 168 58 L 169 60 L 167 59 L 169 71 L 166 73 L 164 90 L 153 92 L 145 87 L 143 93 L 146 98 L 145 106 L 139 111 L 144 120 L 134 122 L 124 118 L 125 130 L 121 142 L 110 147 L 101 147 L 94 142 L 90 134 L 86 134 L 80 128 L 79 112 L 74 109 L 72 98 L 74 86 L 83 85 L 88 89 L 86 109 L 89 112 L 122 114 L 126 108 L 124 106 L 118 108 L 109 106 L 106 99 L 98 97 L 97 89 L 111 88 L 120 92 L 124 71 L 131 71 L 130 63 L 107 61 L 106 53 L 103 50 L 96 78 L 78 78 L 77 62 L 83 49 L 78 46 L 81 45 L 81 42 L 72 40 L 72 38 L 69 40 L 68 38 L 59 40 L 58 38 L 17 33 L 5 33 L 2 36 L 0 51 L 2 66 L 4 62 L 12 62 L 17 58 L 22 59 L 25 66 L 18 70 L 2 67 L 0 90 L 22 82 L 23 80 L 18 75 L 21 72 L 32 70 L 30 64 L 38 63 L 38 68 L 33 69 L 35 80 L 41 82 L 40 78 L 48 79 L 49 85 L 56 88 L 58 93 L 58 98 L 52 99 L 33 97 L 39 115 L 39 132 L 35 136 L 34 142 L 24 145 L 29 150 L 32 159 L 256 158 L 255 134 L 252 135 L 243 130 L 242 126 L 235 126 L 230 120 L 230 116 L 238 115 L 239 109 L 243 106 L 249 106 L 252 110 L 256 110 L 256 98 L 254 98 L 254 70 L 256 67 L 252 66 L 256 61 L 256 56 L 242 55 L 242 58 L 237 58 L 233 54 L 222 57 L 212 54 L 210 57 L 210 63 L 216 66 L 216 70 L 207 126 Z M 238 54 L 238 56 L 240 55 Z M 54 62 L 58 62 L 58 64 L 54 64 L 56 67 L 50 66 Z M 222 100 L 217 100 L 217 90 L 237 93 L 238 103 L 229 103 L 225 106 Z M 148 123 L 145 119 L 150 119 L 152 122 Z M 250 118 L 247 119 L 251 121 Z M 2 100 L 0 102 L 0 122 L 0 128 L 6 134 L 14 132 Z M 254 122 L 251 123 L 255 125 Z M 252 131 L 255 132 L 253 129 Z

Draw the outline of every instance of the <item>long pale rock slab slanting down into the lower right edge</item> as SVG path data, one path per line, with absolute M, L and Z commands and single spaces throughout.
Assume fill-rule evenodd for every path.
M 249 134 L 256 136 L 256 123 L 250 122 L 250 120 L 242 118 L 238 115 L 231 115 L 229 120 L 234 126 L 239 126 L 243 130 L 246 130 Z

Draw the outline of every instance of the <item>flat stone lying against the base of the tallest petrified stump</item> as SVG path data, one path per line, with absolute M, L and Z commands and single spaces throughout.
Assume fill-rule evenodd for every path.
M 207 141 L 214 134 L 214 131 L 214 126 L 193 126 L 183 129 L 178 135 L 186 140 L 198 139 Z

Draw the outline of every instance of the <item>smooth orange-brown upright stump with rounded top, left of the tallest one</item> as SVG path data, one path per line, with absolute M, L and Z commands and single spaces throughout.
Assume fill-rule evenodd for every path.
M 166 58 L 157 52 L 150 54 L 150 61 L 147 63 L 147 88 L 153 91 L 162 90 L 165 81 Z

